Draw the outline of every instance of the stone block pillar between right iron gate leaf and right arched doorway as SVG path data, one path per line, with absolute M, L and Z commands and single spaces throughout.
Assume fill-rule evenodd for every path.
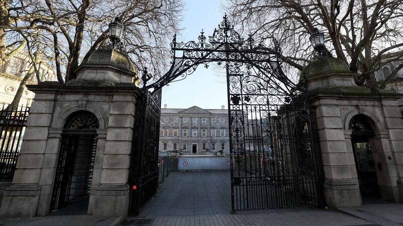
M 352 173 L 356 170 L 349 137 L 351 132 L 343 130 L 338 101 L 320 98 L 313 102 L 313 105 L 316 106 L 316 123 L 325 177 L 325 202 L 331 208 L 359 206 L 361 195 L 357 174 Z M 347 144 L 349 141 L 350 144 Z

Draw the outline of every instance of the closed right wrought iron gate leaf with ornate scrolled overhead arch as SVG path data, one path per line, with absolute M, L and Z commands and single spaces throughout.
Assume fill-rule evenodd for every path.
M 207 42 L 208 40 L 208 42 Z M 304 84 L 282 70 L 281 48 L 242 38 L 225 16 L 198 42 L 171 43 L 172 66 L 145 89 L 184 79 L 198 65 L 225 65 L 232 210 L 323 205 L 314 110 Z M 145 77 L 145 76 L 144 76 Z

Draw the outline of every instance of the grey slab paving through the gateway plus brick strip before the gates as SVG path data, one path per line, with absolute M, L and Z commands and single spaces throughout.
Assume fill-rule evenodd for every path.
M 338 211 L 287 208 L 231 214 L 228 171 L 172 172 L 138 217 L 121 225 L 375 225 Z

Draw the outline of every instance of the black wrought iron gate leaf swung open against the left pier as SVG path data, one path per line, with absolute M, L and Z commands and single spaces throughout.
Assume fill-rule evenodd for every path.
M 154 93 L 144 89 L 136 104 L 135 131 L 131 150 L 130 213 L 140 209 L 153 197 L 158 187 L 158 145 L 160 138 L 162 89 Z

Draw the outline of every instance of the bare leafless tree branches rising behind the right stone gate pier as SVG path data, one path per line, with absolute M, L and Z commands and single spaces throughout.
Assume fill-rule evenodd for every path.
M 310 62 L 308 38 L 318 28 L 327 49 L 357 73 L 356 83 L 375 92 L 385 85 L 378 86 L 374 72 L 403 57 L 401 0 L 229 0 L 226 8 L 243 32 L 262 42 L 275 37 L 282 59 L 297 70 Z

